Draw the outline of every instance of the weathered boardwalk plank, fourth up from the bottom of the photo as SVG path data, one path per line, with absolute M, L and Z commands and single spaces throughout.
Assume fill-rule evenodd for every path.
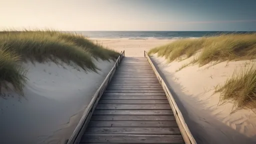
M 174 115 L 92 115 L 91 120 L 117 120 L 117 121 L 173 121 Z

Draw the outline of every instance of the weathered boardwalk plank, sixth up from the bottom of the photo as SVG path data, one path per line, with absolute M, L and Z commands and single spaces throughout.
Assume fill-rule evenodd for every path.
M 170 109 L 169 104 L 98 104 L 96 109 Z

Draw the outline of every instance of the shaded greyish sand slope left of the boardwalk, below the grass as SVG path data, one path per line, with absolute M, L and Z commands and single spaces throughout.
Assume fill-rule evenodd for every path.
M 29 78 L 25 97 L 11 91 L 0 97 L 0 143 L 63 143 L 113 62 L 96 62 L 98 73 L 78 71 L 65 63 L 22 65 Z

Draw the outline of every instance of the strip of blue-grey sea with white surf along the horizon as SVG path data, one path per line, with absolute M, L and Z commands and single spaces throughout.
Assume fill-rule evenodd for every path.
M 198 38 L 228 33 L 256 33 L 256 31 L 69 31 L 85 37 L 128 39 Z

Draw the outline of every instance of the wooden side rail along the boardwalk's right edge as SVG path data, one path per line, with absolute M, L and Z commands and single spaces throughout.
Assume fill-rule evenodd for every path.
M 183 118 L 183 115 L 182 113 L 180 112 L 173 96 L 171 95 L 168 87 L 166 86 L 166 83 L 164 82 L 164 80 L 162 79 L 162 77 L 160 76 L 160 74 L 158 73 L 158 71 L 156 70 L 154 64 L 152 63 L 150 57 L 147 55 L 146 51 L 144 51 L 144 57 L 146 57 L 146 59 L 148 60 L 149 64 L 151 65 L 157 79 L 159 80 L 165 94 L 166 94 L 166 97 L 169 101 L 169 104 L 170 104 L 170 107 L 171 107 L 171 110 L 174 114 L 174 117 L 175 117 L 175 120 L 177 122 L 177 125 L 178 125 L 178 128 L 180 130 L 180 133 L 182 134 L 182 137 L 184 139 L 184 142 L 186 144 L 195 144 L 196 141 L 194 140 L 190 130 L 188 129 L 187 127 L 187 124 Z

